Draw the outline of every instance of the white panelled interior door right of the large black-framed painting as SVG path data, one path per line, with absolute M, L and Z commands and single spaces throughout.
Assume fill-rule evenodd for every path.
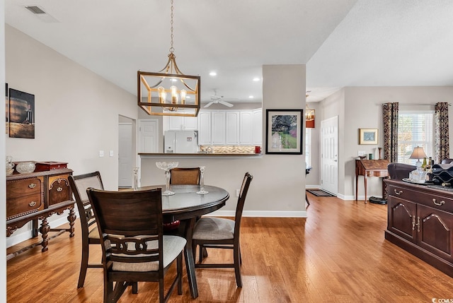
M 321 189 L 338 194 L 338 116 L 321 121 Z

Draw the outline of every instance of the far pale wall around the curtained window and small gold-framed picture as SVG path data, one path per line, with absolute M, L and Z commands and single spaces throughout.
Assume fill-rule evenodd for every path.
M 383 147 L 382 104 L 399 102 L 401 109 L 434 109 L 437 102 L 453 103 L 453 86 L 432 87 L 348 87 L 321 102 L 321 115 L 328 119 L 339 115 L 338 196 L 355 199 L 355 158 L 358 150 L 375 153 Z M 453 148 L 453 112 L 449 107 L 450 149 Z M 318 114 L 316 113 L 316 117 Z M 377 145 L 360 145 L 359 129 L 379 129 Z M 382 151 L 384 153 L 384 150 Z M 384 154 L 382 154 L 384 155 Z M 451 153 L 453 156 L 453 152 Z M 367 178 L 367 196 L 382 196 L 380 178 Z M 359 177 L 359 198 L 364 197 L 363 177 Z

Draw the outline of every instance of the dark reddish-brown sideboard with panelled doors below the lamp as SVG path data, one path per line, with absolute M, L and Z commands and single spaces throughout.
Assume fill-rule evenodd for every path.
M 453 191 L 391 179 L 385 238 L 453 277 Z

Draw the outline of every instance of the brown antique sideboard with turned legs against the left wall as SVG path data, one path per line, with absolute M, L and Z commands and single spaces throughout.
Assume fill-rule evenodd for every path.
M 6 237 L 30 221 L 33 221 L 32 236 L 38 237 L 38 231 L 42 234 L 42 251 L 47 251 L 47 237 L 51 231 L 69 232 L 69 237 L 74 237 L 76 215 L 68 181 L 71 174 L 72 170 L 62 168 L 6 176 Z M 61 215 L 67 209 L 69 228 L 51 229 L 47 218 L 55 213 Z M 41 220 L 39 228 L 38 220 Z

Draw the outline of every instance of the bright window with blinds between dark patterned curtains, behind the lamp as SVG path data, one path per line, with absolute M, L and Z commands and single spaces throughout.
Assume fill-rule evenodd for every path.
M 398 113 L 398 162 L 415 165 L 417 160 L 409 157 L 417 146 L 423 147 L 428 157 L 434 156 L 433 117 L 434 111 Z

